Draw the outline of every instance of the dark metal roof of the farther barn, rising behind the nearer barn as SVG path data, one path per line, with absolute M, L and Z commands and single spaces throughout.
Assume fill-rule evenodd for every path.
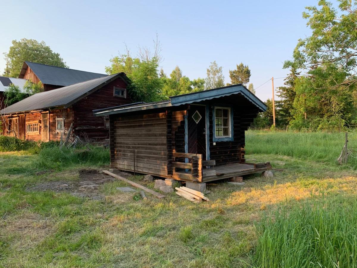
M 19 78 L 24 78 L 27 67 L 30 67 L 42 84 L 69 86 L 83 81 L 107 76 L 106 74 L 62 68 L 41 63 L 25 61 Z

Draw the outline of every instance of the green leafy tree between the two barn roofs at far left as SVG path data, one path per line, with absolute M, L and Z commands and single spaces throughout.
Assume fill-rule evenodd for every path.
M 21 91 L 19 86 L 10 84 L 4 92 L 5 95 L 5 105 L 10 106 L 14 103 L 17 103 L 20 100 L 23 100 L 33 94 L 39 93 L 42 89 L 41 82 L 39 84 L 31 83 L 26 81 L 24 89 Z

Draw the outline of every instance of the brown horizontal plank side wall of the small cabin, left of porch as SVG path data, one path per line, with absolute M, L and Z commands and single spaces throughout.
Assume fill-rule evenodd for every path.
M 166 112 L 114 119 L 114 163 L 118 169 L 167 176 Z

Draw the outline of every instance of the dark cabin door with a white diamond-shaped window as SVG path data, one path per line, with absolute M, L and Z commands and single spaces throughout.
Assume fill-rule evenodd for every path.
M 206 106 L 191 105 L 187 116 L 188 153 L 206 160 Z

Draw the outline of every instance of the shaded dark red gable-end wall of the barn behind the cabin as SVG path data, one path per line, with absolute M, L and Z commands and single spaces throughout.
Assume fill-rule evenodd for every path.
M 132 103 L 128 92 L 126 98 L 113 96 L 114 86 L 126 88 L 125 82 L 118 78 L 73 105 L 75 132 L 81 139 L 90 142 L 109 139 L 104 117 L 94 116 L 93 110 Z

